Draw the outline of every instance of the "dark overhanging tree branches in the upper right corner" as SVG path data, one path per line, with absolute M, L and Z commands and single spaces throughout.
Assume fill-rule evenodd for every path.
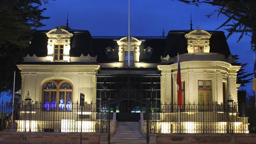
M 219 28 L 225 27 L 228 31 L 227 38 L 233 33 L 240 33 L 237 42 L 243 35 L 251 37 L 251 49 L 256 51 L 256 0 L 179 0 L 189 5 L 200 6 L 202 3 L 216 6 L 217 9 L 207 17 L 218 13 L 228 17 Z M 218 30 L 219 28 L 216 28 Z

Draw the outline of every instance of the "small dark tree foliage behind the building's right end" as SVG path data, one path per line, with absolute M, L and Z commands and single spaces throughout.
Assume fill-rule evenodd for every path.
M 241 66 L 240 70 L 237 71 L 237 83 L 241 84 L 241 87 L 246 86 L 253 78 L 248 78 L 249 76 L 253 75 L 253 73 L 247 74 L 244 72 L 244 67 L 248 65 L 248 63 L 238 63 L 237 60 L 239 59 L 238 55 L 233 55 L 235 58 L 234 63 L 237 63 Z

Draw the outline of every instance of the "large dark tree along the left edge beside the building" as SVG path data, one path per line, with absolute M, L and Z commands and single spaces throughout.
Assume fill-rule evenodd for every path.
M 41 8 L 48 0 L 0 0 L 0 94 L 12 92 L 14 71 L 16 90 L 21 88 L 21 74 L 16 64 L 21 62 L 24 51 L 36 28 L 44 26 Z

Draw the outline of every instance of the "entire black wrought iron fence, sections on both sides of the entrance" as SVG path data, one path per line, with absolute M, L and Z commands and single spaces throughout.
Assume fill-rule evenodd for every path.
M 255 133 L 254 105 L 156 105 L 149 103 L 149 133 Z M 0 131 L 21 132 L 109 132 L 112 112 L 107 100 L 101 105 L 24 103 L 14 106 L 0 103 Z

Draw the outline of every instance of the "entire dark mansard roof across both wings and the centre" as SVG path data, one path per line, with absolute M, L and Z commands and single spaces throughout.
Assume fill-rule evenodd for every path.
M 70 56 L 97 56 L 98 63 L 111 63 L 118 62 L 118 49 L 117 41 L 122 37 L 92 37 L 88 30 L 67 30 L 73 36 L 70 40 Z M 37 30 L 31 41 L 30 47 L 26 54 L 37 57 L 47 56 L 47 35 L 49 30 Z M 177 56 L 177 53 L 188 53 L 187 39 L 185 35 L 190 33 L 191 30 L 170 30 L 167 37 L 136 37 L 142 41 L 140 45 L 140 62 L 147 63 L 160 63 L 161 56 L 170 57 Z M 230 50 L 226 42 L 226 37 L 222 31 L 207 30 L 212 36 L 209 41 L 211 53 L 221 53 L 226 57 L 230 56 Z M 106 48 L 111 47 L 114 51 L 110 57 L 106 55 Z M 149 58 L 144 49 L 151 47 L 154 51 Z

